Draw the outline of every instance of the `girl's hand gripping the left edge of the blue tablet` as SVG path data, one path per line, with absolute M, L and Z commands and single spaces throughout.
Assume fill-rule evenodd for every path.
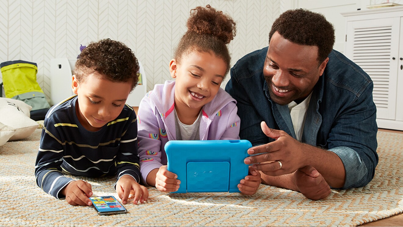
M 181 181 L 178 176 L 167 170 L 167 166 L 160 167 L 155 178 L 155 187 L 160 192 L 176 192 Z

